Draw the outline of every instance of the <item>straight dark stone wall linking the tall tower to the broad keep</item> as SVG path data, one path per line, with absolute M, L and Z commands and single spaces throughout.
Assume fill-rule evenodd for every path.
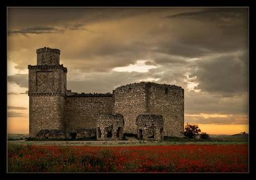
M 99 113 L 112 113 L 112 94 L 75 94 L 66 97 L 65 122 L 67 131 L 95 128 Z

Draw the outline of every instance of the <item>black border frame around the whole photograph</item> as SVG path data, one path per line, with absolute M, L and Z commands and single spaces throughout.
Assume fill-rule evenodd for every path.
M 1 77 L 2 77 L 2 84 L 4 84 L 1 88 L 1 96 L 2 96 L 2 119 L 1 119 L 1 173 L 3 173 L 3 178 L 125 178 L 131 179 L 132 177 L 136 176 L 137 178 L 224 178 L 224 179 L 252 179 L 254 175 L 254 166 L 253 163 L 255 162 L 255 154 L 254 154 L 254 147 L 253 147 L 253 139 L 254 139 L 254 129 L 253 129 L 253 121 L 254 116 L 252 111 L 253 102 L 255 99 L 255 95 L 253 93 L 249 93 L 249 158 L 250 158 L 250 166 L 249 166 L 249 173 L 7 173 L 6 169 L 6 162 L 7 162 L 7 7 L 249 7 L 249 92 L 253 91 L 254 84 L 252 78 L 252 67 L 254 63 L 254 51 L 253 49 L 253 40 L 254 39 L 254 32 L 255 29 L 253 27 L 253 22 L 255 21 L 255 9 L 253 7 L 252 1 L 236 1 L 236 0 L 227 0 L 227 1 L 212 1 L 212 0 L 205 0 L 205 1 L 192 1 L 192 0 L 176 0 L 176 1 L 17 1 L 17 2 L 1 2 L 1 24 L 2 30 L 1 32 L 1 56 L 2 60 L 1 67 Z M 254 50 L 254 49 L 253 49 Z M 251 53 L 253 52 L 253 53 Z M 251 77 L 251 78 L 250 78 Z

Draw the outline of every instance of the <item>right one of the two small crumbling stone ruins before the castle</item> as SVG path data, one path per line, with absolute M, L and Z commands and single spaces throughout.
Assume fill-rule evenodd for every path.
M 137 137 L 139 139 L 154 139 L 161 141 L 164 139 L 163 116 L 156 114 L 140 114 L 136 118 Z

